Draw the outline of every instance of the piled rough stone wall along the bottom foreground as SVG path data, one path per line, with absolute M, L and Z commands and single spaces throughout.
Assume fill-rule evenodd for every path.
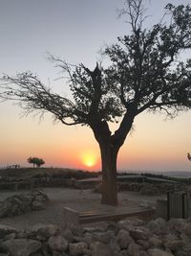
M 59 230 L 37 224 L 20 231 L 0 225 L 2 256 L 190 256 L 191 222 L 157 219 Z

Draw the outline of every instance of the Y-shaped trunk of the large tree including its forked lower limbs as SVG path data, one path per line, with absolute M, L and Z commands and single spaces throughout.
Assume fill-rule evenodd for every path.
M 106 121 L 93 119 L 91 128 L 99 144 L 102 163 L 102 198 L 101 203 L 117 205 L 117 153 L 132 128 L 135 111 L 126 113 L 119 128 L 112 135 Z

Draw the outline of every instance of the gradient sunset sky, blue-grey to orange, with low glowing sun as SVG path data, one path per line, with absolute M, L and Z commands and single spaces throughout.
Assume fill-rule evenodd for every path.
M 157 23 L 170 1 L 145 0 L 149 27 Z M 171 0 L 175 5 L 190 0 Z M 124 18 L 117 18 L 123 0 L 0 0 L 0 73 L 31 70 L 53 90 L 70 97 L 62 74 L 49 62 L 47 52 L 69 63 L 94 68 L 106 44 L 128 34 Z M 191 53 L 187 53 L 191 57 Z M 54 124 L 50 114 L 22 117 L 11 102 L 0 104 L 0 166 L 28 166 L 27 158 L 43 158 L 46 166 L 99 170 L 99 149 L 86 127 Z M 134 131 L 119 151 L 118 170 L 191 171 L 191 111 L 174 120 L 164 115 L 140 114 Z M 112 130 L 115 130 L 112 126 Z

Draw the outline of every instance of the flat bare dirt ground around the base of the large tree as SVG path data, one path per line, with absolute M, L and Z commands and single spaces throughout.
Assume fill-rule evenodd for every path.
M 156 204 L 158 198 L 165 198 L 165 196 L 141 196 L 136 192 L 119 192 L 118 205 L 115 207 L 101 204 L 100 194 L 93 193 L 91 190 L 44 188 L 42 191 L 50 198 L 50 203 L 45 210 L 0 219 L 0 224 L 9 224 L 18 229 L 29 228 L 36 223 L 53 223 L 59 225 L 60 221 L 62 221 L 63 207 L 70 207 L 79 213 L 92 211 L 117 212 L 119 210 L 138 207 L 140 204 Z M 24 192 L 19 191 L 19 193 Z M 15 192 L 1 191 L 0 201 L 14 194 Z

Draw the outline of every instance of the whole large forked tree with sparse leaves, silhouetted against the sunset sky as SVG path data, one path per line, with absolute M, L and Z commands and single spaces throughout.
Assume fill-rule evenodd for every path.
M 53 93 L 32 73 L 3 78 L 1 97 L 16 100 L 26 109 L 51 112 L 64 125 L 92 128 L 102 162 L 102 203 L 117 204 L 117 153 L 136 116 L 143 111 L 164 111 L 175 117 L 191 106 L 191 59 L 179 60 L 191 48 L 191 8 L 167 5 L 169 22 L 143 27 L 142 0 L 126 0 L 131 35 L 118 37 L 105 49 L 111 66 L 98 63 L 91 71 L 74 69 L 61 58 L 51 59 L 69 75 L 73 100 Z M 109 122 L 121 122 L 112 134 Z

